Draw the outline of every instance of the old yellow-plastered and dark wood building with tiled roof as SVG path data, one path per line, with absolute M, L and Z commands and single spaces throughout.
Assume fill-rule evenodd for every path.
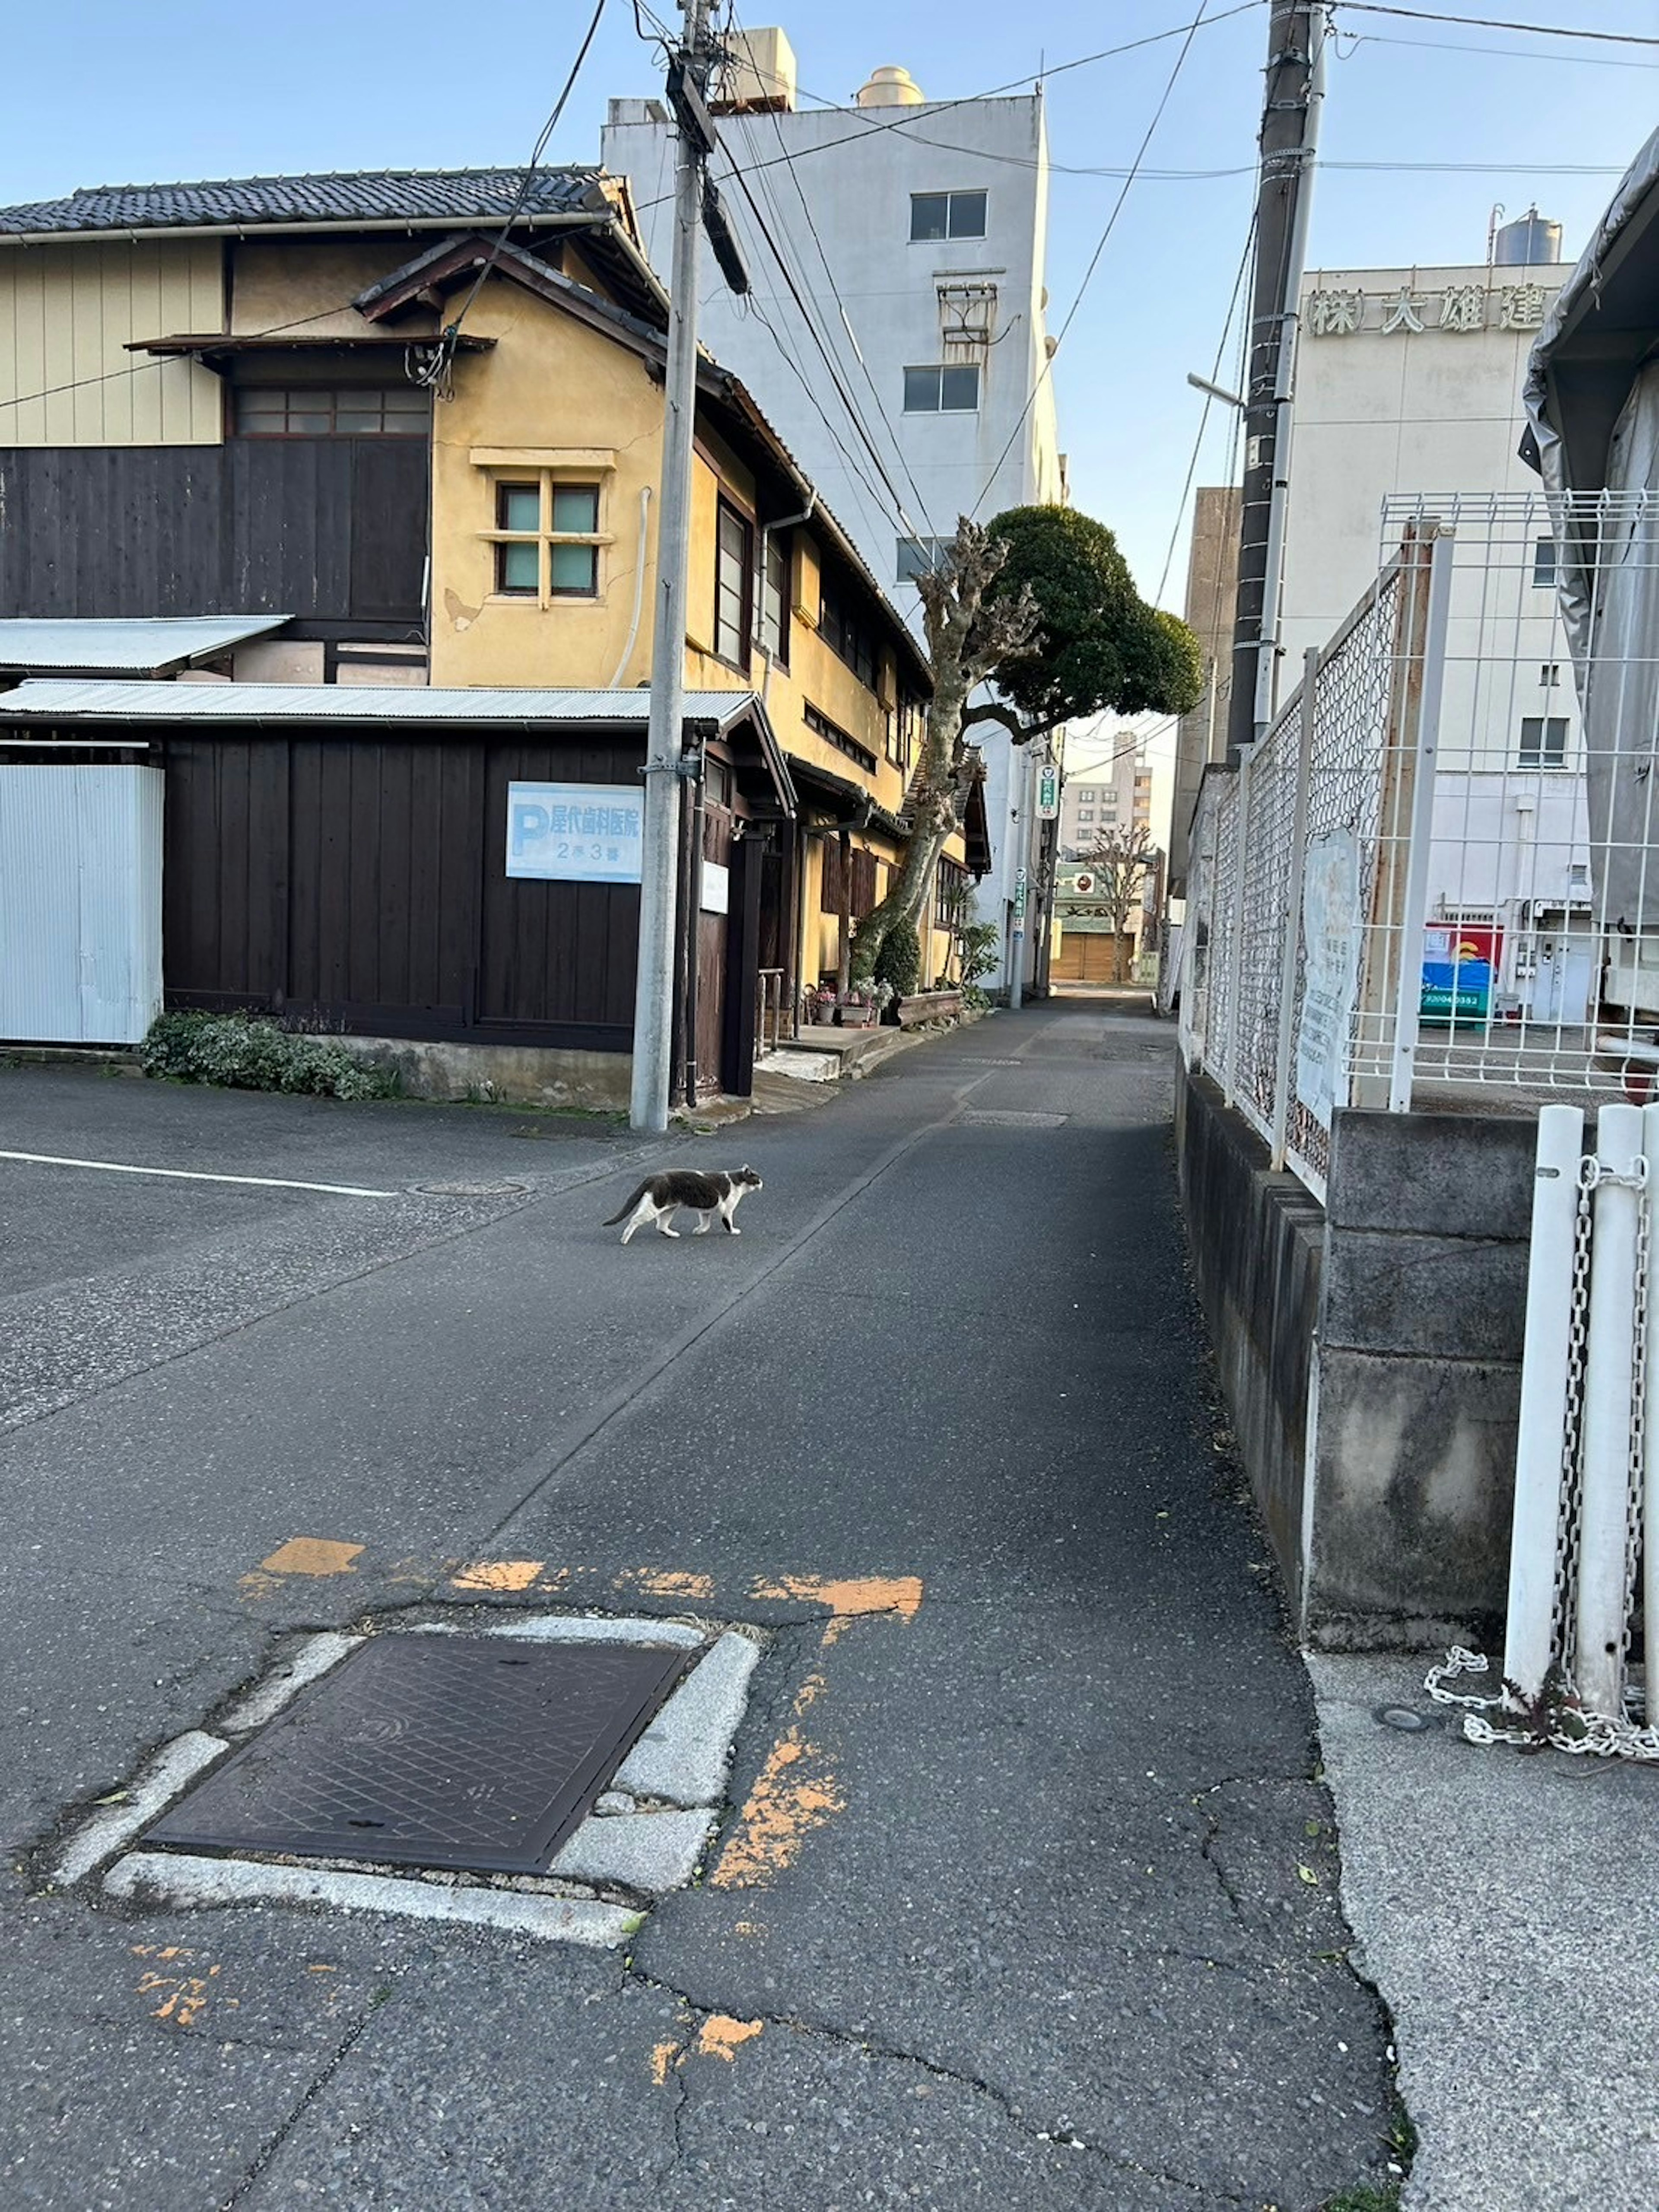
M 635 776 L 666 301 L 619 179 L 538 170 L 522 204 L 520 184 L 243 179 L 0 210 L 0 624 L 272 624 L 184 670 L 177 690 L 212 699 L 181 697 L 173 728 L 108 690 L 4 701 L 18 732 L 144 723 L 175 1004 L 626 1048 L 637 894 L 544 885 L 535 905 L 495 878 L 491 841 L 504 783 Z M 931 679 L 754 398 L 708 361 L 690 560 L 686 684 L 723 706 L 686 730 L 708 874 L 681 885 L 701 920 L 679 1066 L 745 1088 L 710 1006 L 770 991 L 792 1020 L 834 980 L 907 836 Z M 533 695 L 533 739 L 511 695 Z M 555 774 L 575 730 L 584 763 Z M 945 874 L 982 865 L 980 845 L 958 838 Z M 938 896 L 925 920 L 947 911 Z M 949 931 L 922 938 L 931 982 Z

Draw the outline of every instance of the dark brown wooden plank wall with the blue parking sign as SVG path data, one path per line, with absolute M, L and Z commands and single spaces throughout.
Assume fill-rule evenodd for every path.
M 168 737 L 168 1004 L 628 1051 L 639 891 L 509 880 L 507 785 L 630 785 L 639 761 L 588 737 Z

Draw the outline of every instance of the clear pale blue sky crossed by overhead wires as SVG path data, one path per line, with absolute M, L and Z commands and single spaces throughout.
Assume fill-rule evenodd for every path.
M 672 13 L 668 0 L 657 0 Z M 1234 0 L 1210 0 L 1221 15 Z M 1429 4 L 1429 0 L 1416 0 Z M 1447 0 L 1453 13 L 1659 35 L 1659 0 Z M 956 100 L 1057 62 L 1188 22 L 1197 0 L 838 0 L 770 7 L 810 93 L 849 100 L 880 62 L 902 62 L 929 100 Z M 513 164 L 564 80 L 591 0 L 453 9 L 436 0 L 75 0 L 13 11 L 0 201 L 80 184 L 237 177 L 321 168 Z M 1617 173 L 1659 124 L 1659 49 L 1533 40 L 1515 31 L 1402 22 L 1338 7 L 1340 58 L 1325 108 L 1314 201 L 1316 263 L 1480 261 L 1493 201 L 1537 199 L 1566 226 L 1568 259 Z M 1201 29 L 1148 153 L 1150 170 L 1237 170 L 1137 181 L 1055 365 L 1073 498 L 1110 522 L 1144 591 L 1157 588 L 1252 201 L 1267 11 Z M 1048 77 L 1055 161 L 1048 250 L 1060 327 L 1146 131 L 1179 40 Z M 613 93 L 657 88 L 657 58 L 611 0 L 549 159 L 595 161 Z M 1467 173 L 1336 164 L 1471 164 Z M 1473 166 L 1478 164 L 1478 168 Z M 1593 175 L 1555 173 L 1562 166 Z M 1228 374 L 1223 372 L 1223 383 Z M 1212 409 L 1199 480 L 1225 462 Z M 1179 604 L 1183 542 L 1166 599 Z

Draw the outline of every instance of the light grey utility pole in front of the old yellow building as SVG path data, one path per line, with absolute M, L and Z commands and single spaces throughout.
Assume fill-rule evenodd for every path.
M 650 644 L 644 863 L 639 874 L 639 973 L 633 1006 L 630 1128 L 668 1128 L 668 1062 L 675 1004 L 675 887 L 679 880 L 681 726 L 686 721 L 686 568 L 697 420 L 697 248 L 714 124 L 703 104 L 712 46 L 708 0 L 686 0 L 686 35 L 668 64 L 679 119 L 675 254 L 668 299 L 661 495 L 657 500 L 657 611 Z

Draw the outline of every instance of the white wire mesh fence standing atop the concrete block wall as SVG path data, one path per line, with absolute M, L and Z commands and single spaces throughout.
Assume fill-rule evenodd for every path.
M 1345 1104 L 1659 1086 L 1659 495 L 1391 500 L 1385 544 L 1188 883 L 1186 1057 L 1321 1197 Z

